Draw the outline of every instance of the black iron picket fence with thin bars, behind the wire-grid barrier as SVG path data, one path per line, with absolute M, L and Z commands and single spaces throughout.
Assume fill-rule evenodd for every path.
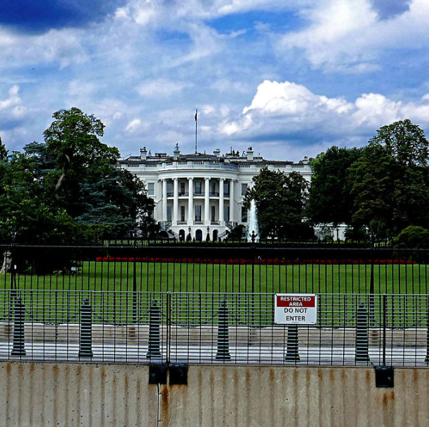
M 427 294 L 428 254 L 341 245 L 0 245 L 0 289 Z

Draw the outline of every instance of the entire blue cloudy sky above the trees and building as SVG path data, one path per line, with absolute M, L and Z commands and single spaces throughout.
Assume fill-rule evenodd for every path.
M 0 137 L 60 108 L 146 146 L 299 160 L 411 119 L 429 133 L 428 0 L 1 0 Z

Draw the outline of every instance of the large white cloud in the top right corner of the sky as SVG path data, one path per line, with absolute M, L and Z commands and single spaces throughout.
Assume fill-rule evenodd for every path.
M 427 0 L 412 0 L 408 10 L 386 20 L 369 0 L 322 0 L 301 14 L 308 27 L 281 37 L 278 53 L 303 49 L 314 67 L 328 71 L 373 71 L 382 51 L 419 49 L 429 42 Z

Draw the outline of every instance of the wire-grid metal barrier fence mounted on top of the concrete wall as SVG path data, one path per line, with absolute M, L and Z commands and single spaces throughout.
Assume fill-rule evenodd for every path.
M 3 290 L 0 360 L 428 367 L 429 295 L 318 294 L 316 325 L 266 293 Z

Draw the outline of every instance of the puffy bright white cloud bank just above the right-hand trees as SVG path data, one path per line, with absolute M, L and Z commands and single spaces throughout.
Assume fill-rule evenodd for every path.
M 353 137 L 401 119 L 429 123 L 429 103 L 397 102 L 379 93 L 367 93 L 354 102 L 342 97 L 316 95 L 307 87 L 292 82 L 259 84 L 250 106 L 235 120 L 220 124 L 224 135 L 258 137 L 269 132 L 287 135 L 313 130 L 320 135 Z

